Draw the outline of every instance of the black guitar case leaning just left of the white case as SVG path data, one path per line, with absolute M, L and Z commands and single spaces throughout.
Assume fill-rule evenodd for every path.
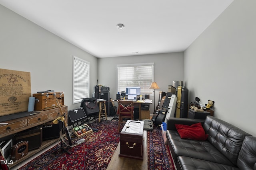
M 168 111 L 168 107 L 169 107 L 171 98 L 172 98 L 172 93 L 167 92 L 166 97 L 164 99 L 163 107 L 160 110 L 158 116 L 156 117 L 156 124 L 155 124 L 156 126 L 161 126 L 162 122 L 164 121 L 164 119 L 166 117 L 166 113 Z

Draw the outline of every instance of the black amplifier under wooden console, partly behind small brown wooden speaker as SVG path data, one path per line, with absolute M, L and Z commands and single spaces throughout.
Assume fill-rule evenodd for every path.
M 40 148 L 42 146 L 42 125 L 16 133 L 14 144 L 16 145 L 21 141 L 28 141 L 28 151 Z

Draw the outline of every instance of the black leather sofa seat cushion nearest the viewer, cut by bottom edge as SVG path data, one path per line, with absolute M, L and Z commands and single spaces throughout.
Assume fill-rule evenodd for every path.
M 178 170 L 239 170 L 237 167 L 218 164 L 206 160 L 190 158 L 186 156 L 178 157 Z

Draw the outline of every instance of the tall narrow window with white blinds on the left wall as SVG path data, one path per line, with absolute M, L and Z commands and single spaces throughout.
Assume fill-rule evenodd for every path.
M 82 64 L 82 65 L 80 65 L 80 67 L 84 65 L 81 68 L 83 70 L 80 70 L 80 71 L 85 72 L 85 75 L 84 75 L 85 77 L 80 81 L 83 81 L 83 83 L 85 83 L 86 86 L 84 87 L 85 88 L 84 90 L 80 90 L 80 91 L 82 91 L 82 93 L 84 93 L 84 96 L 80 96 L 80 97 L 79 97 L 79 95 L 77 95 L 77 93 L 79 93 L 79 88 L 81 88 L 82 85 L 78 86 L 77 85 L 78 83 L 76 82 L 75 78 L 76 78 L 76 76 L 80 76 L 80 78 L 82 78 L 82 76 L 76 75 L 76 71 L 77 71 L 77 70 L 75 70 L 76 62 L 78 62 L 77 64 L 79 64 L 79 63 Z M 77 66 L 77 67 L 79 67 L 79 66 Z M 79 80 L 77 80 L 77 81 L 79 81 Z M 83 98 L 89 98 L 89 96 L 90 96 L 90 83 L 89 82 L 90 82 L 90 62 L 80 59 L 79 57 L 73 56 L 73 98 L 72 98 L 73 104 L 81 102 Z

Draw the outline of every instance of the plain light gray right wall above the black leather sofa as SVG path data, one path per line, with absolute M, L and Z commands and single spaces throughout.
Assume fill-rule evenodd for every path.
M 256 136 L 256 1 L 234 2 L 184 52 L 189 98 Z

